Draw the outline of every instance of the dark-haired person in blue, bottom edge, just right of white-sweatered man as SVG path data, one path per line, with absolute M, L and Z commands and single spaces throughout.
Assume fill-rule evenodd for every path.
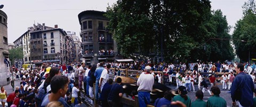
M 167 90 L 164 93 L 164 97 L 156 99 L 154 105 L 155 107 L 167 106 L 170 105 L 172 100 L 172 91 Z

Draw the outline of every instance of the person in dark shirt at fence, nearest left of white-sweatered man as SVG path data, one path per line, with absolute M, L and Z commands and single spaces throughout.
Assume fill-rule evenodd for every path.
M 121 97 L 123 96 L 124 90 L 121 86 L 122 79 L 120 77 L 116 78 L 116 84 L 111 87 L 108 95 L 108 105 L 113 107 L 122 106 Z

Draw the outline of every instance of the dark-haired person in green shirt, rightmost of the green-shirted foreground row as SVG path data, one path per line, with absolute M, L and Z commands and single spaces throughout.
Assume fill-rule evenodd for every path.
M 212 96 L 207 100 L 207 107 L 226 107 L 227 102 L 220 97 L 220 88 L 213 86 L 211 91 Z

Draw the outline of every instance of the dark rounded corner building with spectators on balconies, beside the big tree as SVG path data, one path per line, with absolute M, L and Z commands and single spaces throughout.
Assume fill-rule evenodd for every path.
M 113 61 L 115 57 L 114 40 L 106 26 L 109 20 L 103 16 L 106 12 L 83 11 L 78 14 L 81 25 L 81 48 L 86 65 L 100 61 Z

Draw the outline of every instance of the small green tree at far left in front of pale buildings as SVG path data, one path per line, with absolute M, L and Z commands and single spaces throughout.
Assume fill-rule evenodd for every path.
M 23 58 L 22 47 L 9 49 L 9 53 L 10 53 L 9 59 L 12 62 L 12 64 L 14 64 L 15 59 L 22 59 Z

